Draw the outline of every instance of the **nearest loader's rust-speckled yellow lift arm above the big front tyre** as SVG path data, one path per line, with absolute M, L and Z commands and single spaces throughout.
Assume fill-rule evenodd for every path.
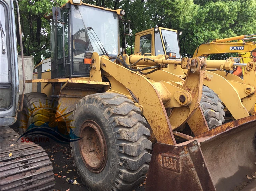
M 144 76 L 105 58 L 101 58 L 101 68 L 136 95 L 138 103 L 143 106 L 142 115 L 150 124 L 158 142 L 175 144 L 165 107 L 152 83 Z M 150 99 L 148 99 L 148 95 L 150 95 Z

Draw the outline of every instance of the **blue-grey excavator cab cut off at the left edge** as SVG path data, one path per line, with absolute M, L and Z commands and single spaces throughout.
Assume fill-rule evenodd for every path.
M 17 120 L 19 74 L 13 2 L 1 0 L 0 8 L 0 125 L 3 127 Z

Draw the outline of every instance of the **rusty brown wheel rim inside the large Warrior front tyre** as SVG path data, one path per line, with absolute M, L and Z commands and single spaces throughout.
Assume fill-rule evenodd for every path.
M 83 123 L 80 129 L 79 151 L 85 166 L 94 173 L 106 166 L 106 140 L 100 126 L 92 120 Z

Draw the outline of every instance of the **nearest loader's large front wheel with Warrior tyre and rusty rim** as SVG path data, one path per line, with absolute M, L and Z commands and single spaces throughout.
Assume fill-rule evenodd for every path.
M 132 190 L 146 177 L 152 143 L 141 111 L 124 95 L 84 97 L 72 114 L 74 164 L 89 190 Z

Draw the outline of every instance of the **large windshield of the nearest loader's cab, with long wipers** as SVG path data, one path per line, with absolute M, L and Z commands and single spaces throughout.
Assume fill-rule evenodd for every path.
M 85 52 L 116 56 L 119 52 L 119 20 L 115 12 L 89 6 L 72 6 L 73 74 L 87 75 Z

